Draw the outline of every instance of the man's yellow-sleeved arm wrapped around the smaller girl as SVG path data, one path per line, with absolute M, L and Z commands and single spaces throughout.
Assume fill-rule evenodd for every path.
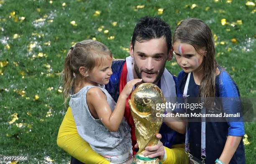
M 65 152 L 86 164 L 109 164 L 104 157 L 92 150 L 77 132 L 77 127 L 69 107 L 59 128 L 57 137 L 58 146 Z

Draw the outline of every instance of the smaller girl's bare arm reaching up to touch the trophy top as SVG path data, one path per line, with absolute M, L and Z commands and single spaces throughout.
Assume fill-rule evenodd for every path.
M 113 132 L 118 130 L 123 119 L 126 99 L 131 93 L 133 86 L 138 82 L 141 82 L 141 79 L 131 80 L 125 85 L 123 91 L 118 97 L 118 102 L 116 103 L 116 107 L 113 112 L 108 105 L 105 94 L 100 88 L 93 87 L 88 90 L 87 104 L 96 111 L 100 121 L 108 130 Z

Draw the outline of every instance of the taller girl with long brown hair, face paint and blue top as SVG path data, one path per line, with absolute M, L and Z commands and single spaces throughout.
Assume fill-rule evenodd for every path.
M 193 97 L 200 97 L 196 101 L 204 105 L 201 114 L 241 112 L 240 94 L 236 83 L 218 66 L 214 58 L 212 32 L 202 20 L 183 20 L 174 31 L 173 48 L 177 64 L 182 68 L 177 78 L 178 98 L 191 103 Z M 219 110 L 215 102 L 216 97 L 222 98 L 219 101 Z M 198 109 L 187 109 L 190 113 L 196 110 Z M 186 129 L 186 152 L 190 162 L 245 163 L 241 140 L 245 134 L 242 117 L 226 122 L 202 117 L 200 122 L 187 122 Z

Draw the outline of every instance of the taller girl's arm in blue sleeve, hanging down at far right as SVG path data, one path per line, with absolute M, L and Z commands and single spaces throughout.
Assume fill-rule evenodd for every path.
M 228 119 L 228 137 L 225 143 L 222 154 L 220 155 L 220 161 L 224 164 L 228 164 L 232 159 L 242 136 L 245 134 L 243 116 L 241 112 L 241 100 L 236 83 L 231 79 L 227 72 L 222 71 L 220 74 L 220 89 L 218 90 L 222 104 L 223 111 L 228 114 L 241 113 L 241 117 L 237 119 Z M 233 122 L 232 122 L 233 121 Z

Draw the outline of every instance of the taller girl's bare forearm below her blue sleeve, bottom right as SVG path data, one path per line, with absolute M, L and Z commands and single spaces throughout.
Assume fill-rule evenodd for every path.
M 228 164 L 233 157 L 236 149 L 241 141 L 242 137 L 240 136 L 228 136 L 227 141 L 225 143 L 225 147 L 223 149 L 222 154 L 220 155 L 220 161 L 224 164 Z M 218 163 L 216 163 L 218 164 Z

